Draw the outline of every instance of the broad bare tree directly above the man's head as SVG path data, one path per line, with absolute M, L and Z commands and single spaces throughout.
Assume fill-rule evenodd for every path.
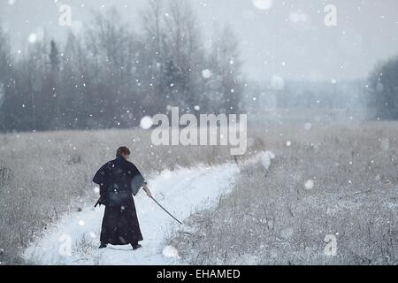
M 119 126 L 126 111 L 135 116 L 142 114 L 140 75 L 137 65 L 141 63 L 142 42 L 121 22 L 115 8 L 105 14 L 96 13 L 92 27 L 88 29 L 88 50 L 98 70 L 96 92 L 101 97 L 102 110 L 112 119 L 103 120 L 104 126 Z M 135 103 L 134 103 L 135 102 Z M 134 105 L 128 109 L 127 104 Z

